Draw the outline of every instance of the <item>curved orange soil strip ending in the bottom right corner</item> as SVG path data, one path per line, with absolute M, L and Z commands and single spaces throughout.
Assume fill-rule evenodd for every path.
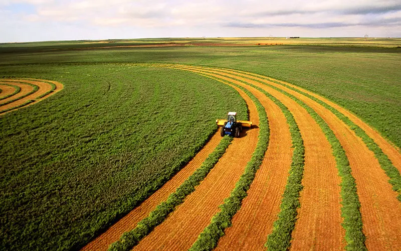
M 401 248 L 401 241 L 399 241 L 401 239 L 401 227 L 399 227 L 401 226 L 399 217 L 401 204 L 395 199 L 396 193 L 391 190 L 387 183 L 388 178 L 381 170 L 373 153 L 331 111 L 296 91 L 279 84 L 271 85 L 284 89 L 313 108 L 329 124 L 340 140 L 350 160 L 358 187 L 367 248 Z M 263 85 L 261 87 L 263 88 Z

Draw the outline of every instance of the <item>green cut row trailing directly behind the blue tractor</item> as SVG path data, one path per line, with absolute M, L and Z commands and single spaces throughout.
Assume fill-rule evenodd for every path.
M 211 153 L 204 163 L 188 177 L 174 193 L 171 193 L 166 201 L 161 202 L 150 214 L 141 220 L 134 229 L 125 232 L 119 241 L 114 242 L 109 250 L 129 250 L 135 246 L 144 236 L 153 228 L 159 225 L 171 213 L 176 206 L 181 204 L 185 197 L 195 190 L 195 187 L 205 179 L 208 173 L 216 165 L 219 159 L 225 153 L 227 147 L 232 141 L 232 137 L 224 137 L 215 151 Z

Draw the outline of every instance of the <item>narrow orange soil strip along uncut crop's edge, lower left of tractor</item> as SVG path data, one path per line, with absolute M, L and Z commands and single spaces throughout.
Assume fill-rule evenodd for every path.
M 143 201 L 139 206 L 129 212 L 122 219 L 108 228 L 103 234 L 87 244 L 82 250 L 107 250 L 109 245 L 117 241 L 121 235 L 135 228 L 136 224 L 145 218 L 155 207 L 173 193 L 197 168 L 202 165 L 221 140 L 218 131 L 210 141 L 200 150 L 193 159 L 177 174 L 167 181 L 160 189 Z

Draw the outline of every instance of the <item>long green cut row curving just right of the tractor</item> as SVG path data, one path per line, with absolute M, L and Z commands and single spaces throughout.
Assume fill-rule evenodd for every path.
M 211 250 L 217 246 L 220 237 L 224 235 L 224 230 L 231 226 L 232 218 L 240 209 L 242 200 L 247 196 L 247 191 L 255 178 L 256 171 L 262 164 L 269 145 L 270 130 L 265 108 L 250 91 L 240 85 L 233 85 L 244 90 L 256 105 L 260 129 L 258 143 L 251 160 L 247 163 L 244 173 L 236 183 L 235 188 L 231 191 L 230 196 L 219 206 L 220 211 L 213 216 L 211 223 L 199 234 L 190 250 Z

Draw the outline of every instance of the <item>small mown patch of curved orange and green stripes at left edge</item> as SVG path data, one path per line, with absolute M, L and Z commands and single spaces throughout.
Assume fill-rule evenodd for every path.
M 3 99 L 0 103 L 0 114 L 34 104 L 63 89 L 59 82 L 31 78 L 1 79 L 0 84 L 2 83 L 16 85 L 21 91 Z

